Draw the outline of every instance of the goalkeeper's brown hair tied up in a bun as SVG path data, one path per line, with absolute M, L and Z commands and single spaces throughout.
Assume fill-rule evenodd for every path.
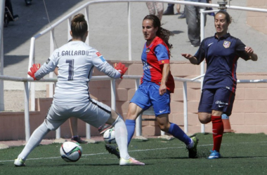
M 79 13 L 72 18 L 70 29 L 72 30 L 73 38 L 82 38 L 84 36 L 88 30 L 88 25 L 82 13 Z

